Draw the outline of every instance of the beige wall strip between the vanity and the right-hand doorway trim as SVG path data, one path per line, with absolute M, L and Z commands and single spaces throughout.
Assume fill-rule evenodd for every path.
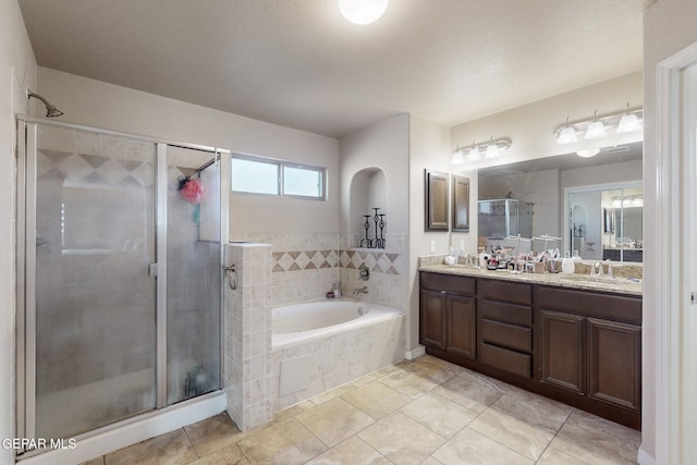
M 645 138 L 644 138 L 644 212 L 646 218 L 657 218 L 658 195 L 657 191 L 657 146 L 658 129 L 657 115 L 657 65 L 664 59 L 673 56 L 685 47 L 697 41 L 697 2 L 694 0 L 660 0 L 644 14 L 644 70 L 645 70 Z M 644 289 L 644 366 L 643 366 L 643 425 L 641 450 L 651 457 L 658 457 L 657 452 L 663 449 L 657 444 L 657 437 L 676 438 L 678 431 L 657 431 L 657 412 L 664 413 L 663 405 L 656 404 L 656 387 L 668 386 L 668 380 L 657 378 L 656 367 L 656 313 L 668 311 L 658 307 L 658 295 L 661 292 L 655 283 L 658 277 L 671 266 L 665 257 L 658 257 L 652 250 L 656 248 L 658 232 L 664 224 L 658 221 L 648 221 L 644 225 L 644 261 L 645 261 L 645 289 Z M 667 338 L 668 334 L 662 334 Z M 660 408 L 661 411 L 657 411 Z M 694 415 L 692 419 L 695 424 Z M 694 444 L 693 444 L 694 448 Z M 660 454 L 659 454 L 660 455 Z M 657 462 L 658 463 L 658 462 Z M 674 462 L 677 463 L 677 462 Z M 686 463 L 686 462 L 685 462 Z

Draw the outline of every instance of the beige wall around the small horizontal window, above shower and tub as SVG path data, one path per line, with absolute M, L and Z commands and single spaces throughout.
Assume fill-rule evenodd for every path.
M 231 195 L 230 233 L 337 232 L 337 139 L 46 68 L 38 85 L 64 122 L 327 167 L 327 201 Z

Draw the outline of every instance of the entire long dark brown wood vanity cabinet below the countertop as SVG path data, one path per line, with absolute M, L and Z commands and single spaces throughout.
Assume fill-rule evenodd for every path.
M 641 427 L 641 297 L 420 271 L 426 353 Z

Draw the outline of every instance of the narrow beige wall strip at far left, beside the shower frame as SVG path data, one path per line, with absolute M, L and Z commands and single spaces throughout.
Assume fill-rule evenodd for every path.
M 14 436 L 14 114 L 27 112 L 26 87 L 35 84 L 36 60 L 17 2 L 0 0 L 0 438 Z M 0 448 L 0 464 L 12 463 L 12 451 Z

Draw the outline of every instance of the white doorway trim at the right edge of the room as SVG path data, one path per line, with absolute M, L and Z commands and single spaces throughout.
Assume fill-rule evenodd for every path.
M 659 257 L 681 257 L 685 245 L 681 234 L 681 212 L 685 205 L 681 188 L 683 146 L 680 73 L 696 62 L 697 44 L 693 44 L 661 61 L 656 70 L 656 221 L 652 222 L 656 280 L 645 284 L 645 287 L 652 286 L 651 294 L 655 296 L 653 320 L 645 320 L 647 325 L 653 323 L 656 331 L 655 372 L 653 378 L 647 380 L 656 389 L 655 404 L 647 405 L 655 409 L 656 415 L 655 463 L 680 463 L 686 445 L 681 418 L 681 352 L 685 345 L 681 322 L 689 305 L 688 295 L 683 289 L 684 269 L 671 267 L 669 260 L 660 260 Z M 650 457 L 646 453 L 643 456 L 643 452 L 639 450 L 639 463 L 649 463 Z

